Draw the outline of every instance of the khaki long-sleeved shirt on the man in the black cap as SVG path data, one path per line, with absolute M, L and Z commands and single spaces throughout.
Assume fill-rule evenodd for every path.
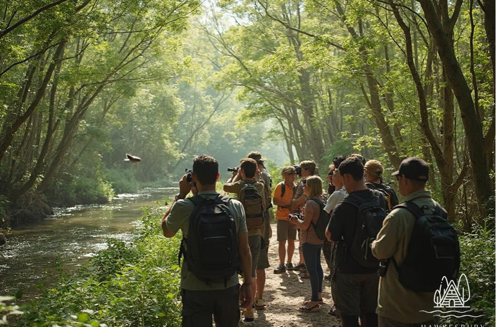
M 404 201 L 413 201 L 418 206 L 435 207 L 430 191 L 417 191 Z M 372 242 L 372 254 L 377 259 L 394 260 L 400 264 L 407 255 L 408 243 L 412 236 L 415 216 L 404 208 L 393 209 L 382 223 L 382 229 Z M 441 281 L 439 281 L 441 282 Z M 420 311 L 434 311 L 434 292 L 414 292 L 403 287 L 392 262 L 386 275 L 379 280 L 377 314 L 405 323 L 418 324 L 433 319 L 433 314 Z

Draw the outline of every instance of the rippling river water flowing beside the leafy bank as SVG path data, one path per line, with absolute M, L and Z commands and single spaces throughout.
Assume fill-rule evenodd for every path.
M 121 194 L 107 204 L 57 208 L 48 219 L 16 226 L 7 235 L 7 244 L 0 247 L 0 295 L 20 290 L 24 298 L 35 297 L 57 282 L 60 266 L 72 273 L 105 249 L 107 238 L 130 240 L 141 207 L 156 207 L 157 200 L 177 191 L 163 188 Z

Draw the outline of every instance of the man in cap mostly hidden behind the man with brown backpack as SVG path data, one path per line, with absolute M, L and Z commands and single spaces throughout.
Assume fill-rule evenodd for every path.
M 258 256 L 258 263 L 256 266 L 256 294 L 253 306 L 257 310 L 265 309 L 265 304 L 263 302 L 263 290 L 265 288 L 265 269 L 267 269 L 269 264 L 269 240 L 272 237 L 272 228 L 270 223 L 274 218 L 274 213 L 270 209 L 272 207 L 272 179 L 270 174 L 264 166 L 264 158 L 262 154 L 257 151 L 251 151 L 248 153 L 247 158 L 251 158 L 256 161 L 258 166 L 257 182 L 263 183 L 265 187 L 266 196 L 266 211 L 264 213 L 265 220 L 262 226 L 262 238 L 261 238 L 261 249 Z

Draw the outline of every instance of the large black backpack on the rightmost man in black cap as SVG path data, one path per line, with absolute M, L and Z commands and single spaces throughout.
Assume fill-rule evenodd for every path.
M 434 212 L 411 201 L 394 207 L 407 209 L 415 216 L 405 259 L 397 264 L 392 258 L 400 283 L 415 292 L 434 292 L 442 277 L 456 278 L 460 267 L 458 234 L 447 220 L 446 211 L 435 204 Z

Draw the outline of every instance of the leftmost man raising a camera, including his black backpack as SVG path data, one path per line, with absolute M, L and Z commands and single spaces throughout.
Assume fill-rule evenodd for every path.
M 242 268 L 251 270 L 245 211 L 239 201 L 215 191 L 218 178 L 215 158 L 196 157 L 191 173 L 180 180 L 179 194 L 162 219 L 165 237 L 173 237 L 181 229 L 181 252 L 187 252 L 181 267 L 183 327 L 211 327 L 212 315 L 218 327 L 238 326 L 240 303 L 242 308 L 251 308 L 253 301 L 251 275 L 244 276 L 240 288 L 237 273 L 238 256 Z M 193 197 L 186 198 L 189 192 Z M 228 210 L 223 209 L 225 207 Z M 216 214 L 208 215 L 209 212 Z M 222 224 L 216 224 L 219 227 L 212 231 L 209 220 Z M 235 234 L 232 234 L 233 230 Z M 198 248 L 205 255 L 195 263 L 193 259 L 198 258 Z M 219 248 L 225 251 L 217 251 Z M 232 262 L 232 265 L 216 266 L 225 262 Z

